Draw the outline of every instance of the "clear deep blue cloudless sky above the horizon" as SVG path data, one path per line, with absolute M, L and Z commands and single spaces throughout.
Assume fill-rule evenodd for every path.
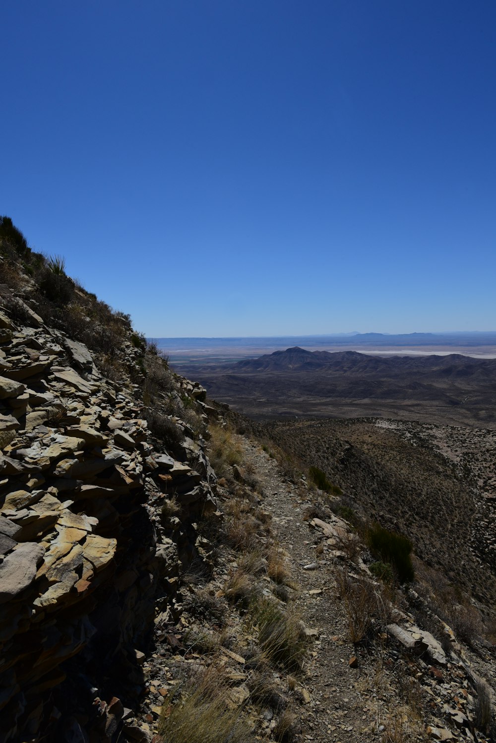
M 0 213 L 148 336 L 496 329 L 494 0 L 15 0 Z

